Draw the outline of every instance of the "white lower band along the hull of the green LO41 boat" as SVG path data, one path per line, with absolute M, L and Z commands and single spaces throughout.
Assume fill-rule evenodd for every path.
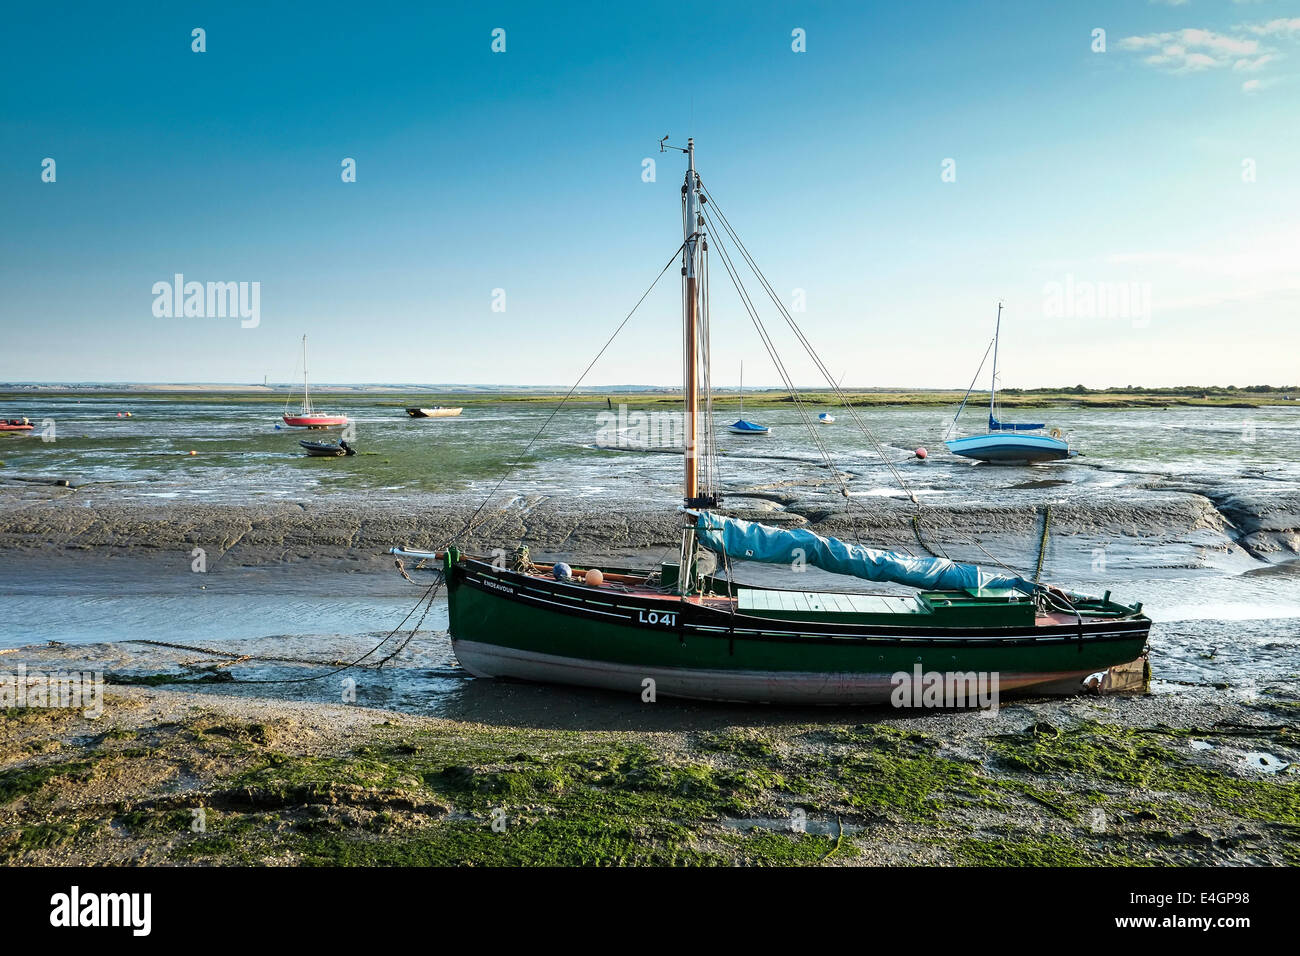
M 892 674 L 826 674 L 809 671 L 737 671 L 694 667 L 642 667 L 556 657 L 480 641 L 452 640 L 460 665 L 476 678 L 515 678 L 546 684 L 576 684 L 636 693 L 653 678 L 666 697 L 741 701 L 748 704 L 871 705 L 888 704 Z M 998 693 L 1036 685 L 1080 682 L 1093 670 L 998 674 Z M 1060 692 L 1060 687 L 1053 688 Z M 1082 685 L 1079 688 L 1083 689 Z

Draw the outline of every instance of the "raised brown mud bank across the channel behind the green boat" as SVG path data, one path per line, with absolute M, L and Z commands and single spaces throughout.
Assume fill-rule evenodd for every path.
M 274 501 L 209 505 L 192 501 L 82 501 L 68 489 L 4 489 L 0 549 L 176 551 L 203 548 L 234 563 L 265 563 L 343 553 L 380 554 L 394 545 L 469 549 L 528 542 L 538 553 L 612 554 L 671 548 L 680 516 L 670 509 L 603 499 L 503 496 L 476 514 L 476 502 L 394 503 L 386 499 Z M 1072 497 L 1039 505 L 926 503 L 897 498 L 827 496 L 820 489 L 746 489 L 727 499 L 728 514 L 805 527 L 857 541 L 930 548 L 998 540 L 1019 542 L 1017 558 L 1036 554 L 1045 520 L 1054 538 L 1183 551 L 1244 551 L 1278 562 L 1300 554 L 1300 494 L 1147 490 Z M 1050 515 L 1048 511 L 1050 510 Z M 473 529 L 465 532 L 468 523 Z

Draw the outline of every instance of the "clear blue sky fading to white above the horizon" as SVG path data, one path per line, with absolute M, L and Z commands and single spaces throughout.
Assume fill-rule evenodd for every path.
M 998 298 L 1008 386 L 1300 382 L 1300 3 L 673 13 L 8 10 L 0 380 L 283 381 L 306 332 L 320 382 L 567 384 L 680 242 L 668 133 L 846 384 L 965 386 Z M 155 316 L 174 273 L 260 324 Z M 776 384 L 714 280 L 715 381 Z M 589 381 L 680 381 L 679 323 L 672 271 Z

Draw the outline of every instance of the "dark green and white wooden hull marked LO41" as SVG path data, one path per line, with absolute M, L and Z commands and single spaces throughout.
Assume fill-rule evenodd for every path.
M 926 628 L 780 620 L 500 571 L 447 567 L 452 649 L 471 674 L 671 697 L 872 705 L 893 675 L 998 674 L 1000 693 L 1136 659 L 1150 622 Z M 905 615 L 900 615 L 905 617 Z M 1080 688 L 1082 689 L 1082 688 Z

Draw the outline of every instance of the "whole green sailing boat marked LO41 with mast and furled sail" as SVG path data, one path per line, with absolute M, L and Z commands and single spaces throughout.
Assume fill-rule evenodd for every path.
M 402 558 L 441 561 L 451 644 L 465 670 L 480 678 L 642 696 L 649 691 L 718 701 L 870 705 L 898 702 L 900 682 L 913 676 L 940 675 L 950 685 L 992 680 L 1000 693 L 1078 691 L 1089 675 L 1139 661 L 1150 620 L 1140 604 L 1121 604 L 1110 592 L 1088 597 L 1010 571 L 878 550 L 722 514 L 716 470 L 707 467 L 714 423 L 707 388 L 701 388 L 708 380 L 708 293 L 702 280 L 707 280 L 710 242 L 737 280 L 722 234 L 746 261 L 753 260 L 703 187 L 693 140 L 660 148 L 680 150 L 688 160 L 679 250 L 685 325 L 680 550 L 675 561 L 655 568 L 593 570 L 537 564 L 526 549 L 512 558 L 498 551 L 495 561 L 455 545 L 434 551 L 394 549 Z M 742 284 L 737 289 L 749 308 Z M 753 312 L 751 317 L 763 333 Z M 824 451 L 811 412 L 798 402 L 775 354 L 774 360 Z M 838 390 L 833 378 L 831 385 Z M 844 402 L 857 421 L 857 411 Z M 733 561 L 784 563 L 790 587 L 738 584 Z M 800 587 L 807 564 L 904 584 L 915 593 Z

